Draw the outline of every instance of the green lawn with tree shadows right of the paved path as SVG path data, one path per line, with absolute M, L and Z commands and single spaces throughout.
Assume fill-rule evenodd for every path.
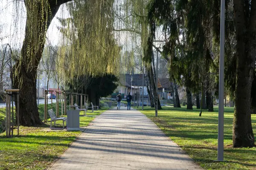
M 212 170 L 256 170 L 256 147 L 232 148 L 232 123 L 234 108 L 224 108 L 224 160 L 217 159 L 218 147 L 218 108 L 215 112 L 200 110 L 187 111 L 185 107 L 162 107 L 158 117 L 154 108 L 144 107 L 144 113 L 161 130 L 177 143 L 192 159 L 204 169 Z M 252 115 L 254 134 L 256 134 L 256 115 Z

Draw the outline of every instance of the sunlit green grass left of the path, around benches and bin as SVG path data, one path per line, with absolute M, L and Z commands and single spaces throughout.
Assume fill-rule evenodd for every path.
M 90 117 L 81 116 L 80 127 L 87 126 L 105 110 L 107 108 L 87 112 Z M 43 119 L 44 105 L 39 105 L 39 113 Z M 80 114 L 83 115 L 83 112 Z M 62 122 L 57 122 L 61 126 Z M 49 127 L 49 122 L 41 127 L 21 126 L 20 136 L 13 138 L 6 138 L 5 133 L 0 133 L 0 170 L 44 170 L 81 134 L 80 131 L 42 131 L 45 127 Z M 17 130 L 14 130 L 14 134 L 17 134 Z

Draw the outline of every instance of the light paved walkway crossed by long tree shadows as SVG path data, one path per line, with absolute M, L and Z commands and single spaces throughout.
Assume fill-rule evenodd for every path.
M 122 110 L 123 109 L 123 110 Z M 146 116 L 108 110 L 96 117 L 49 170 L 200 170 Z

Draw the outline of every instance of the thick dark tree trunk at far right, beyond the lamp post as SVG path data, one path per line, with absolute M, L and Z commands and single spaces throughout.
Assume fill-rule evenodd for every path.
M 251 87 L 256 56 L 256 2 L 234 0 L 236 26 L 236 92 L 233 147 L 254 147 L 251 123 Z

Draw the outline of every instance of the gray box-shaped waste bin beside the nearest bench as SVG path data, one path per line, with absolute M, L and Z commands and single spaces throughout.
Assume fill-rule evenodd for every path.
M 78 110 L 67 110 L 67 130 L 80 130 Z

